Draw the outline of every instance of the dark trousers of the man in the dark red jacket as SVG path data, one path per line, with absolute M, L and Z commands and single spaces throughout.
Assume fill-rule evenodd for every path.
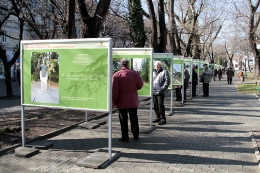
M 129 139 L 127 112 L 129 113 L 129 117 L 130 117 L 131 130 L 133 136 L 134 138 L 138 138 L 139 124 L 138 124 L 138 117 L 137 117 L 137 108 L 118 109 L 118 112 L 119 112 L 119 120 L 121 124 L 122 139 Z

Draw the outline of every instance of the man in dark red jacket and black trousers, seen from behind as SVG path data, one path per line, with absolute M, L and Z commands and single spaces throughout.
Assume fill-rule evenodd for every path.
M 134 140 L 139 138 L 139 124 L 137 117 L 138 94 L 137 90 L 143 87 L 143 81 L 134 70 L 129 69 L 129 61 L 122 59 L 121 69 L 113 75 L 112 100 L 113 107 L 118 108 L 121 124 L 122 138 L 121 142 L 128 142 L 128 116 L 129 113 L 131 130 Z

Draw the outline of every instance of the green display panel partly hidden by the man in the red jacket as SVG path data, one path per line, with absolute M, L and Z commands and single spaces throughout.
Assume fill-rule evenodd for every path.
M 128 59 L 129 68 L 137 71 L 144 86 L 138 90 L 138 96 L 151 97 L 152 96 L 152 48 L 113 48 L 113 74 L 120 70 L 120 60 Z

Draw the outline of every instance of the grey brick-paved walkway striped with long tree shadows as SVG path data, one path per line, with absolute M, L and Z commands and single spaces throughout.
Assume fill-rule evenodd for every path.
M 169 95 L 165 102 L 169 111 Z M 92 130 L 77 128 L 48 139 L 53 148 L 30 158 L 2 156 L 0 172 L 260 172 L 249 134 L 260 129 L 260 102 L 253 94 L 239 94 L 235 84 L 228 85 L 226 80 L 213 81 L 209 98 L 195 97 L 184 107 L 175 102 L 173 110 L 166 125 L 128 143 L 118 141 L 120 126 L 117 114 L 113 114 L 112 147 L 121 155 L 105 169 L 82 168 L 76 163 L 107 148 L 107 125 Z M 140 126 L 149 125 L 148 106 L 138 114 Z

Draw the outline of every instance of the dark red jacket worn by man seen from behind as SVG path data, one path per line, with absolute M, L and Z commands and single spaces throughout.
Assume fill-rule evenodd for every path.
M 143 87 L 143 81 L 134 70 L 122 67 L 113 75 L 112 100 L 118 109 L 137 108 L 137 90 Z

